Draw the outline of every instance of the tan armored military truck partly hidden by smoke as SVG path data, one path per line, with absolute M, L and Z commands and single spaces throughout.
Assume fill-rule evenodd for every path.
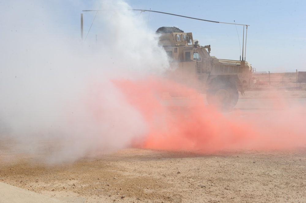
M 233 108 L 238 101 L 238 90 L 243 93 L 250 86 L 250 63 L 217 59 L 210 56 L 210 45 L 199 45 L 191 32 L 169 30 L 173 31 L 173 27 L 161 27 L 156 32 L 160 34 L 160 45 L 164 47 L 171 63 L 170 77 L 200 93 L 206 93 L 210 105 L 222 109 Z

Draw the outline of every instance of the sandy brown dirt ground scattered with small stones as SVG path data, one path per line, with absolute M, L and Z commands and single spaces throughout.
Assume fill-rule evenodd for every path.
M 247 91 L 240 99 L 279 93 Z M 306 98 L 306 91 L 281 95 Z M 9 144 L 1 138 L 0 181 L 63 202 L 306 202 L 306 147 L 209 155 L 129 148 L 47 165 Z

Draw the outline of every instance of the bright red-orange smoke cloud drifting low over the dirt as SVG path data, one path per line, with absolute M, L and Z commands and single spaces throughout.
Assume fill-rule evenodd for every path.
M 138 81 L 116 80 L 113 83 L 124 93 L 127 102 L 142 114 L 149 126 L 145 139 L 136 142 L 139 147 L 211 153 L 225 149 L 291 149 L 306 143 L 303 117 L 294 109 L 264 113 L 244 113 L 239 110 L 222 113 L 207 106 L 201 97 L 186 100 L 187 103 L 192 102 L 191 107 L 167 107 L 163 101 L 171 103 L 173 100 L 162 98 L 163 92 L 179 92 L 183 95 L 195 95 L 196 92 L 175 82 L 154 77 Z M 284 105 L 282 102 L 279 107 Z

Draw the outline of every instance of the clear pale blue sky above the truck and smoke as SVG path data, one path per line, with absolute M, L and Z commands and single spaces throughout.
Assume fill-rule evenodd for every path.
M 36 8 L 51 13 L 60 30 L 72 38 L 80 38 L 80 14 L 84 13 L 84 35 L 95 13 L 82 12 L 97 7 L 96 0 L 36 1 Z M 111 1 L 110 1 L 111 2 Z M 246 60 L 257 71 L 306 70 L 306 1 L 141 1 L 126 0 L 132 9 L 152 9 L 219 22 L 248 24 Z M 4 2 L 2 2 L 4 3 Z M 1 3 L 1 4 L 2 4 Z M 4 3 L 5 4 L 5 3 Z M 140 12 L 135 11 L 136 15 Z M 99 14 L 98 14 L 99 15 Z M 177 16 L 144 12 L 148 31 L 162 26 L 176 26 L 192 32 L 201 45 L 211 45 L 211 55 L 220 59 L 239 60 L 243 27 L 191 20 Z M 87 41 L 98 40 L 99 24 L 93 23 Z M 56 29 L 56 27 L 55 27 Z

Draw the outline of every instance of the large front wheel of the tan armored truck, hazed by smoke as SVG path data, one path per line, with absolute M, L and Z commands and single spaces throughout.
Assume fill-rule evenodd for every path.
M 238 98 L 239 93 L 234 85 L 216 85 L 206 92 L 207 103 L 222 110 L 231 110 L 237 104 Z

